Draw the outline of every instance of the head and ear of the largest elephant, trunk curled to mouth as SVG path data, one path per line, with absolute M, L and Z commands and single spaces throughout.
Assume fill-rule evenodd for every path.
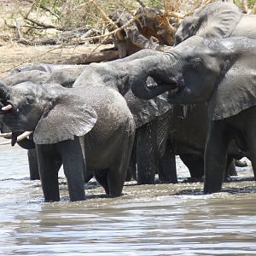
M 256 104 L 255 55 L 253 39 L 194 36 L 163 55 L 158 66 L 157 57 L 151 63 L 159 90 L 161 83 L 162 89 L 174 86 L 169 92 L 170 103 L 209 102 L 212 119 L 222 119 Z M 143 71 L 137 75 L 139 83 L 132 84 L 138 97 L 154 94 L 145 84 L 147 75 L 148 70 Z

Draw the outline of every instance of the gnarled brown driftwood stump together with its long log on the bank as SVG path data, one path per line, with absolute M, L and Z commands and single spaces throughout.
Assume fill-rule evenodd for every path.
M 109 31 L 113 28 L 125 26 L 118 34 L 113 35 L 115 49 L 107 49 L 99 53 L 90 55 L 75 55 L 66 58 L 61 63 L 69 64 L 89 64 L 90 62 L 112 61 L 131 55 L 140 49 L 165 49 L 166 46 L 174 44 L 175 29 L 170 25 L 168 18 L 158 9 L 141 8 L 137 12 L 138 19 L 134 19 L 130 24 L 129 21 L 134 17 L 127 12 L 115 11 L 110 15 L 113 23 L 108 27 Z M 106 20 L 106 18 L 104 18 Z M 158 40 L 153 42 L 151 37 Z

